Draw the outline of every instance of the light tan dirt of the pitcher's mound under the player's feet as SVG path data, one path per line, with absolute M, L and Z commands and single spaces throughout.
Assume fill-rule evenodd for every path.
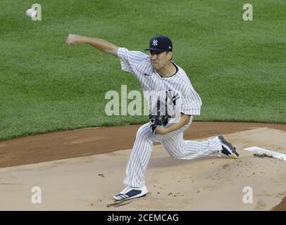
M 112 196 L 124 188 L 130 149 L 1 168 L 0 210 L 271 210 L 286 195 L 286 162 L 254 158 L 243 148 L 286 153 L 286 132 L 265 127 L 224 136 L 239 159 L 174 160 L 154 146 L 146 174 L 149 193 L 124 203 L 114 203 Z M 67 143 L 75 141 L 82 143 L 66 136 Z M 33 204 L 39 190 L 42 203 Z

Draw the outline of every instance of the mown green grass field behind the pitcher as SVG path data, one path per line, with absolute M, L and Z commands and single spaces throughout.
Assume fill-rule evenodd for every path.
M 203 101 L 200 121 L 286 123 L 286 1 L 0 1 L 0 140 L 47 131 L 147 122 L 104 113 L 106 91 L 140 90 L 117 58 L 91 46 L 65 46 L 69 33 L 142 50 L 173 40 L 175 63 Z

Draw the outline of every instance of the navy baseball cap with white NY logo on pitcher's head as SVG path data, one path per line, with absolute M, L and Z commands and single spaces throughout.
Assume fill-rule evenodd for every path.
M 149 49 L 145 51 L 173 51 L 172 41 L 163 35 L 152 37 L 149 42 Z

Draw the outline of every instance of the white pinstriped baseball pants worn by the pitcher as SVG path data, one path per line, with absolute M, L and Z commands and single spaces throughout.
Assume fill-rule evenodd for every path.
M 213 153 L 222 149 L 220 141 L 216 138 L 206 141 L 184 140 L 183 131 L 189 127 L 191 122 L 192 117 L 189 124 L 166 135 L 153 134 L 149 122 L 139 127 L 126 166 L 127 176 L 125 177 L 124 183 L 132 187 L 144 186 L 144 176 L 151 158 L 154 142 L 161 142 L 170 157 L 181 160 L 192 160 L 205 155 L 213 155 Z

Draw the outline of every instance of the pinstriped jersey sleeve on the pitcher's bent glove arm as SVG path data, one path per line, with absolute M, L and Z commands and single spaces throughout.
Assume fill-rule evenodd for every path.
M 180 111 L 185 115 L 201 114 L 201 98 L 194 89 L 190 88 L 187 94 L 183 96 Z

